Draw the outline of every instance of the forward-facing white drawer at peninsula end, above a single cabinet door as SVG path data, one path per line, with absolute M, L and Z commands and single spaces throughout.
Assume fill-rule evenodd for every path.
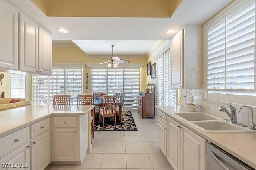
M 54 127 L 77 127 L 77 117 L 54 117 Z

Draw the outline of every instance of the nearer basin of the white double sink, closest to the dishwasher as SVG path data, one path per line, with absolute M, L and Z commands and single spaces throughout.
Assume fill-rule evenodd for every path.
M 210 133 L 239 133 L 253 132 L 249 128 L 240 127 L 224 121 L 194 121 L 195 125 Z

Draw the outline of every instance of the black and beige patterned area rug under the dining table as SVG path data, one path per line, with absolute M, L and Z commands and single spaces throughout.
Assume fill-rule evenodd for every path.
M 105 117 L 105 127 L 103 127 L 102 124 L 103 123 L 99 123 L 99 116 L 96 114 L 94 131 L 137 131 L 137 127 L 130 111 L 123 111 L 122 123 L 120 123 L 119 117 L 116 116 L 116 127 L 115 120 L 110 121 L 110 117 Z

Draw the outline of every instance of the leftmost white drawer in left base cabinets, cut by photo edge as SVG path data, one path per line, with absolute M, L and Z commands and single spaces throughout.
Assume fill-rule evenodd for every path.
M 29 127 L 0 138 L 0 157 L 29 141 Z

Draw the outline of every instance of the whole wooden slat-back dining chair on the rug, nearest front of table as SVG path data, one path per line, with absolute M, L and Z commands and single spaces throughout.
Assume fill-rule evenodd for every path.
M 105 117 L 115 117 L 116 125 L 116 96 L 103 97 L 103 107 L 100 109 L 100 116 L 102 116 L 103 127 L 105 127 Z

